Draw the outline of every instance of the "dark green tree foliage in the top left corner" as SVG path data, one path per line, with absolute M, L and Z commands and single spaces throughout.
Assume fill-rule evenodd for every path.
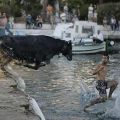
M 6 12 L 8 15 L 13 15 L 15 17 L 21 16 L 21 9 L 24 9 L 26 13 L 30 14 L 40 14 L 42 5 L 40 0 L 0 0 L 0 11 Z

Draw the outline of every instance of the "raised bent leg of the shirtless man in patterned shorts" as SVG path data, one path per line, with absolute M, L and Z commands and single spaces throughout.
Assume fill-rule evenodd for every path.
M 107 88 L 110 88 L 108 98 L 112 98 L 112 94 L 116 89 L 118 82 L 115 80 L 107 81 Z

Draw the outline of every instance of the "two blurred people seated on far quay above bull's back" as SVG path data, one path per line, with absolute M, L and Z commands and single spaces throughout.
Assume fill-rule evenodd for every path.
M 33 19 L 32 15 L 30 14 L 26 16 L 26 28 L 27 29 L 34 28 L 34 27 L 42 28 L 42 25 L 43 25 L 43 20 L 40 15 L 38 15 L 36 19 Z

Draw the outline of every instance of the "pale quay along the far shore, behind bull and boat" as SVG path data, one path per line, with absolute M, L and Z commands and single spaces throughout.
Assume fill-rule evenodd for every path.
M 54 26 L 55 28 L 55 26 Z M 99 26 L 101 32 L 103 33 L 105 38 L 119 38 L 120 39 L 120 30 L 119 31 L 112 31 L 110 26 L 107 28 L 103 27 L 102 25 Z M 41 29 L 26 29 L 25 24 L 17 23 L 14 25 L 14 29 L 11 31 L 15 33 L 15 31 L 21 31 L 21 33 L 25 33 L 27 35 L 48 35 L 52 36 L 54 29 L 51 28 L 50 24 L 43 24 Z

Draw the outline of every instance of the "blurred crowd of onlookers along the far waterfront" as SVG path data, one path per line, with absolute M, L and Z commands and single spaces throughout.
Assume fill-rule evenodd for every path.
M 74 12 L 74 11 L 73 11 Z M 43 27 L 44 23 L 49 23 L 51 26 L 54 26 L 58 23 L 67 23 L 67 22 L 73 22 L 81 20 L 80 13 L 74 13 L 70 14 L 68 12 L 68 6 L 65 5 L 63 10 L 60 12 L 57 12 L 53 14 L 53 9 L 51 6 L 48 6 L 48 10 L 46 12 L 46 19 L 42 14 L 39 14 L 37 16 L 33 16 L 30 13 L 26 14 L 24 16 L 24 23 L 26 25 L 26 29 L 33 29 L 33 28 L 39 28 L 41 29 Z M 97 22 L 98 20 L 98 13 L 97 13 L 97 5 L 90 4 L 88 7 L 88 21 Z M 0 12 L 0 34 L 3 34 L 3 31 L 1 29 L 7 27 L 8 29 L 14 28 L 14 22 L 15 19 L 13 16 L 6 15 L 5 12 Z M 119 31 L 120 30 L 120 20 L 116 18 L 115 15 L 103 16 L 102 20 L 103 27 L 105 29 L 111 28 L 112 31 Z M 108 27 L 110 26 L 110 27 Z M 109 30 L 109 29 L 108 29 Z

